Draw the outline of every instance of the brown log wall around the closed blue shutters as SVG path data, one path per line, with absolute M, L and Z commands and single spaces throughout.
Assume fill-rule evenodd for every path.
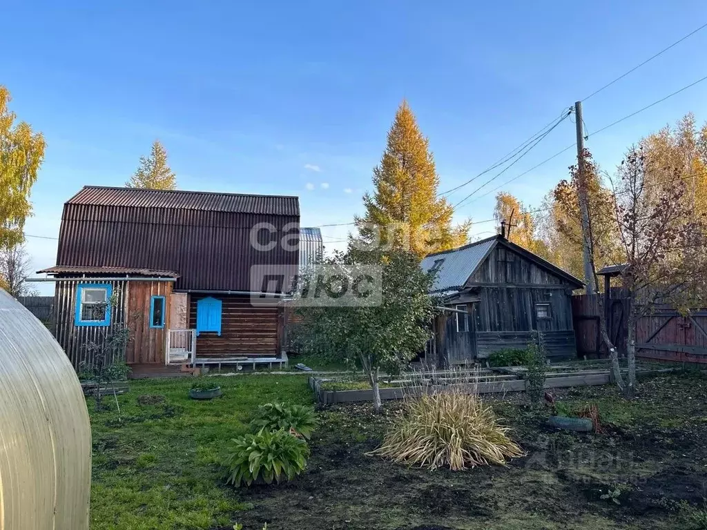
M 197 337 L 197 357 L 230 357 L 237 355 L 279 356 L 281 310 L 279 300 L 271 305 L 250 304 L 247 296 L 191 295 L 189 327 L 197 327 L 197 302 L 213 296 L 222 302 L 221 336 L 202 332 Z

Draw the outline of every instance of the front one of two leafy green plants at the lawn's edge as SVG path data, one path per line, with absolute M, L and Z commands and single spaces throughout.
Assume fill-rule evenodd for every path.
M 304 471 L 310 454 L 307 442 L 286 430 L 261 430 L 232 442 L 221 464 L 226 469 L 226 483 L 235 486 L 292 480 Z

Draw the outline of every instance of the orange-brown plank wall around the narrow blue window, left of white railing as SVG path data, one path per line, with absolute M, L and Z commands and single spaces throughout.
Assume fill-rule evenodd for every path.
M 127 324 L 132 340 L 126 348 L 128 364 L 164 364 L 165 339 L 170 327 L 170 295 L 172 282 L 130 281 L 128 282 Z M 165 297 L 165 326 L 150 327 L 150 302 L 153 296 Z

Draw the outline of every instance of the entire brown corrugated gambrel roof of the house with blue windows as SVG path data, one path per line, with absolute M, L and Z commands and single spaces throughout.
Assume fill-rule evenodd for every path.
M 177 290 L 251 290 L 250 268 L 296 273 L 297 197 L 84 187 L 64 204 L 57 266 L 175 271 Z M 276 242 L 258 250 L 259 242 Z M 286 237 L 291 246 L 282 242 Z

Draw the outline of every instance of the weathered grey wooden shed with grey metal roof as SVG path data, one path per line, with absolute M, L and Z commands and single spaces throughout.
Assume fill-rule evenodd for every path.
M 495 235 L 430 254 L 432 293 L 445 312 L 435 321 L 426 363 L 474 363 L 506 348 L 525 348 L 542 331 L 547 355 L 576 355 L 571 296 L 584 284 L 541 257 Z

